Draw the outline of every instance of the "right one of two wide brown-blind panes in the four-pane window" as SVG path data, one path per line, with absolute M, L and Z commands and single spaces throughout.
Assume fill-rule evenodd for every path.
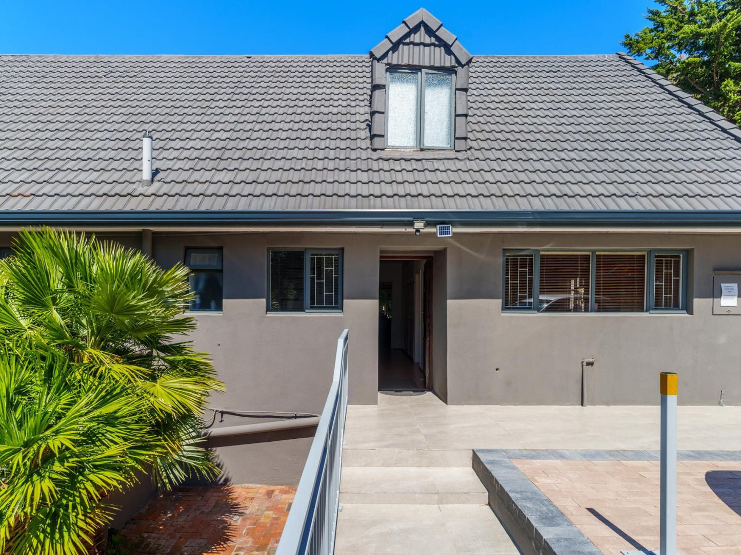
M 595 312 L 645 311 L 645 253 L 596 255 Z

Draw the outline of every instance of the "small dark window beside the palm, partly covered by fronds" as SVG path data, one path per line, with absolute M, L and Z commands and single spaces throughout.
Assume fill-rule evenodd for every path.
M 185 266 L 190 268 L 190 310 L 220 311 L 224 297 L 222 249 L 185 249 Z

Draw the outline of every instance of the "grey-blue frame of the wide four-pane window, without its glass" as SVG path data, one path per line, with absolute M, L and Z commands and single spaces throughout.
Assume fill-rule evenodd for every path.
M 589 312 L 540 312 L 540 255 L 550 252 L 564 253 L 589 253 L 590 254 L 590 283 L 589 283 Z M 644 309 L 641 312 L 614 312 L 594 310 L 594 295 L 597 289 L 597 254 L 602 253 L 645 253 L 647 268 L 645 269 L 645 295 Z M 533 255 L 533 307 L 528 308 L 509 308 L 505 306 L 505 297 L 507 295 L 507 275 L 506 263 L 508 255 Z M 679 281 L 680 302 L 678 309 L 654 309 L 654 272 L 656 255 L 680 255 L 682 263 L 680 264 L 681 275 Z M 622 314 L 629 316 L 631 314 L 687 314 L 688 302 L 688 251 L 686 249 L 503 249 L 502 251 L 502 313 L 505 314 Z

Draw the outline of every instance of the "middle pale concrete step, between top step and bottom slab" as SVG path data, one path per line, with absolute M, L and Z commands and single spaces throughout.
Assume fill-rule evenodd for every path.
M 486 505 L 488 494 L 473 468 L 345 467 L 341 503 L 364 505 Z

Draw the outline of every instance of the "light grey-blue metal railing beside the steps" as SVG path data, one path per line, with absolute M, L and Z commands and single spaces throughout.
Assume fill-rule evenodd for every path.
M 348 411 L 348 330 L 337 340 L 334 377 L 276 555 L 331 555 L 339 511 L 342 437 Z

